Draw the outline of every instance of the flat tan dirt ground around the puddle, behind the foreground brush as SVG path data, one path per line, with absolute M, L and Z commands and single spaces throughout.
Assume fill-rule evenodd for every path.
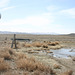
M 11 47 L 13 34 L 0 34 L 0 48 Z M 70 35 L 23 35 L 18 34 L 16 38 L 30 39 L 31 41 L 17 41 L 18 48 L 13 49 L 16 52 L 23 52 L 29 57 L 34 57 L 36 60 L 49 65 L 55 72 L 56 75 L 75 75 L 75 57 L 66 58 L 56 58 L 48 55 L 49 49 L 59 49 L 59 48 L 75 48 L 75 36 Z M 33 42 L 55 42 L 58 41 L 59 44 L 56 46 L 49 46 L 48 48 L 42 47 L 32 47 L 32 46 L 22 46 L 24 43 L 31 44 Z M 46 53 L 41 51 L 45 50 Z M 14 66 L 14 65 L 13 65 Z M 72 74 L 66 72 L 72 71 Z

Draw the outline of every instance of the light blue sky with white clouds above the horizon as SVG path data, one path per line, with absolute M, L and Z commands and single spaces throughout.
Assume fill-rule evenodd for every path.
M 0 0 L 0 31 L 75 33 L 75 0 Z

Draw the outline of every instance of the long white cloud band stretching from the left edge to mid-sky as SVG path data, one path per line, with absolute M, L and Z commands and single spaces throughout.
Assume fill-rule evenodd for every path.
M 25 19 L 15 19 L 9 22 L 0 22 L 0 25 L 32 25 L 32 26 L 43 26 L 52 23 L 53 20 L 50 20 L 44 16 L 32 16 Z

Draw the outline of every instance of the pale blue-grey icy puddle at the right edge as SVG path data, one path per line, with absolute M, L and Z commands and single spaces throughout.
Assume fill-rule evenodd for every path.
M 53 53 L 54 57 L 58 57 L 58 58 L 70 58 L 71 56 L 75 56 L 75 49 L 59 49 L 59 50 L 50 50 Z M 51 55 L 49 53 L 49 55 Z

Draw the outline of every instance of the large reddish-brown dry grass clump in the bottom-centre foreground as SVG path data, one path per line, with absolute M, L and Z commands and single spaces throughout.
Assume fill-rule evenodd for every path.
M 49 74 L 53 73 L 50 67 L 45 66 L 43 63 L 36 61 L 34 58 L 19 59 L 18 61 L 16 61 L 16 64 L 17 64 L 17 68 L 24 69 L 29 72 L 39 71 L 39 72 L 45 72 Z

